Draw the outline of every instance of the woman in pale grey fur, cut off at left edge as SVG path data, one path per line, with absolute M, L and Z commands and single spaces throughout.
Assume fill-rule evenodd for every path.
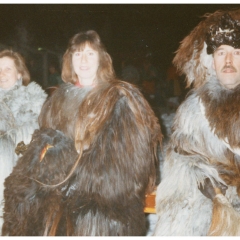
M 30 75 L 23 57 L 14 51 L 0 52 L 0 233 L 3 224 L 4 179 L 17 161 L 15 148 L 28 144 L 38 126 L 38 115 L 47 94 Z

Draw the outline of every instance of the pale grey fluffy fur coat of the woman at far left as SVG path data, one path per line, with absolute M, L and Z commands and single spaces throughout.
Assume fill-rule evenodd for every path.
M 32 133 L 38 128 L 38 116 L 46 97 L 43 89 L 34 82 L 28 86 L 18 82 L 10 90 L 0 90 L 0 232 L 4 179 L 16 164 L 17 144 L 21 141 L 28 144 Z

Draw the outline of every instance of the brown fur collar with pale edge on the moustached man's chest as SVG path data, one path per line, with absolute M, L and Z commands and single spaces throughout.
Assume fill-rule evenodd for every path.
M 211 78 L 197 91 L 211 130 L 233 148 L 240 143 L 240 85 L 226 89 Z

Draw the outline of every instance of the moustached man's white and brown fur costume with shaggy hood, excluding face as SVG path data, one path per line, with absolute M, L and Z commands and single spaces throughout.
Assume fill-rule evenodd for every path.
M 213 57 L 207 55 L 204 42 L 207 26 L 217 22 L 221 15 L 217 12 L 200 23 L 182 41 L 173 61 L 186 74 L 188 85 L 193 84 L 193 90 L 176 113 L 167 146 L 156 195 L 158 221 L 154 235 L 157 236 L 211 235 L 214 203 L 198 187 L 206 178 L 213 186 L 214 181 L 227 185 L 218 167 L 234 162 L 238 168 L 240 163 L 240 85 L 231 90 L 220 85 L 212 69 Z M 240 18 L 239 11 L 232 16 Z M 228 185 L 225 197 L 221 196 L 226 200 L 222 201 L 224 209 L 229 207 L 230 215 L 238 220 L 237 187 Z M 223 216 L 222 226 L 232 225 L 231 217 Z M 238 229 L 227 231 L 223 227 L 219 235 L 239 234 Z

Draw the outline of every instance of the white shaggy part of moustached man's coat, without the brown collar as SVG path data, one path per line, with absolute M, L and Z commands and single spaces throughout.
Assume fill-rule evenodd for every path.
M 218 161 L 228 162 L 225 152 L 229 149 L 210 129 L 204 109 L 196 91 L 177 111 L 163 180 L 157 189 L 159 220 L 155 235 L 202 236 L 208 233 L 212 201 L 200 192 L 198 184 L 206 177 L 224 183 L 214 165 Z M 233 205 L 240 206 L 235 187 L 229 186 L 226 196 Z

